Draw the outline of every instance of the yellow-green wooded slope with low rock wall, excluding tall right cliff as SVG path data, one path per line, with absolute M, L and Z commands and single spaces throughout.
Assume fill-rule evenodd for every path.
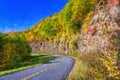
M 43 50 L 45 45 L 51 50 L 48 46 L 53 45 L 59 48 L 52 48 L 55 52 L 68 53 L 68 49 L 78 48 L 77 38 L 82 25 L 91 18 L 96 3 L 97 0 L 69 0 L 60 13 L 41 20 L 20 35 L 31 41 L 34 51 Z M 48 49 L 44 51 L 49 52 Z

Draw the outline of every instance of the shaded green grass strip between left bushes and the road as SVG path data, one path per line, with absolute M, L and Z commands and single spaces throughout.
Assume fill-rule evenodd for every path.
M 13 66 L 10 66 L 9 68 L 5 70 L 0 71 L 0 76 L 5 75 L 5 74 L 10 74 L 13 72 L 17 72 L 20 70 L 24 70 L 30 67 L 34 67 L 34 66 L 37 66 L 43 63 L 47 63 L 52 59 L 53 57 L 48 56 L 48 55 L 31 54 L 31 56 L 27 58 L 26 60 L 18 61 Z

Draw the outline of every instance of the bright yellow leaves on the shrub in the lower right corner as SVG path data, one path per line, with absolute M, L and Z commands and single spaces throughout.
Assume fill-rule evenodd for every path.
M 118 66 L 116 65 L 117 59 L 116 51 L 104 52 L 104 55 L 98 59 L 102 62 L 103 66 L 106 68 L 109 78 L 115 80 L 120 79 Z

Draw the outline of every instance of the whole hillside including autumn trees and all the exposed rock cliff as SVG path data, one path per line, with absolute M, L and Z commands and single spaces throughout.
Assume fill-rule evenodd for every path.
M 119 35 L 119 6 L 106 0 L 100 0 L 96 6 L 97 3 L 98 0 L 69 0 L 60 13 L 41 20 L 21 35 L 31 42 L 33 51 L 88 53 L 109 50 L 113 48 L 111 40 Z

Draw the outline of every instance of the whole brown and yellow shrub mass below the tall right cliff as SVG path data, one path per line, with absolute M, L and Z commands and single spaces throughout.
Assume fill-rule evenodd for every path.
M 103 53 L 88 53 L 82 57 L 87 62 L 89 80 L 120 80 L 115 50 Z

